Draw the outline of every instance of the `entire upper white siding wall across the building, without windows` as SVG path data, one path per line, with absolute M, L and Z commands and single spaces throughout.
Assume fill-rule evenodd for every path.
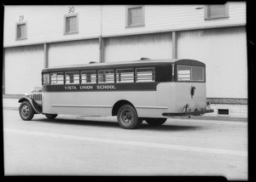
M 144 5 L 145 26 L 126 27 L 126 5 L 5 6 L 4 47 L 52 43 L 93 37 L 116 37 L 157 31 L 180 31 L 246 25 L 246 3 L 230 2 L 229 18 L 205 20 L 203 4 Z M 79 32 L 64 34 L 64 15 L 79 14 Z M 23 15 L 27 39 L 15 40 L 15 24 Z

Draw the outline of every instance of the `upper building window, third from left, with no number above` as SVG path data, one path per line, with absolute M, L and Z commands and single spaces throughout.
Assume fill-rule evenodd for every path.
M 143 6 L 132 6 L 126 8 L 126 26 L 144 26 Z

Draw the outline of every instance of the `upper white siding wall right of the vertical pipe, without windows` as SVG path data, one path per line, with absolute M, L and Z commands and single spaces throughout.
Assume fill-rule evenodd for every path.
M 214 26 L 245 25 L 246 3 L 229 2 L 228 19 L 205 20 L 203 4 L 145 5 L 145 26 L 125 27 L 125 5 L 102 7 L 102 36 L 137 34 L 152 31 L 202 29 Z M 201 9 L 197 9 L 201 8 Z

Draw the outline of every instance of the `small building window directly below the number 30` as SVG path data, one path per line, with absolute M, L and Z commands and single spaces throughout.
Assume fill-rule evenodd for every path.
M 79 32 L 79 15 L 68 14 L 64 16 L 64 34 Z

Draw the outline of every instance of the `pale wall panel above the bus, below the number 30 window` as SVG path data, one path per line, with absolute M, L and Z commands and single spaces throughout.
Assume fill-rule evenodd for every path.
M 99 62 L 99 40 L 72 41 L 49 44 L 49 67 Z

